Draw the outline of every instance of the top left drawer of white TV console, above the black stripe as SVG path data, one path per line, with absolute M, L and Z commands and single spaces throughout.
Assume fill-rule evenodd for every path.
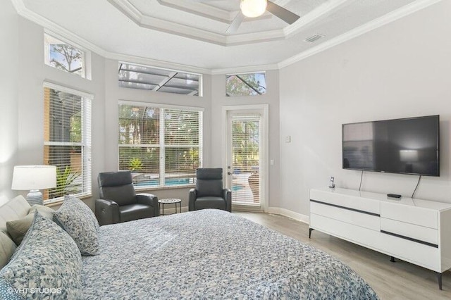
M 325 204 L 334 204 L 344 208 L 352 208 L 356 211 L 365 213 L 373 213 L 379 215 L 379 201 L 366 199 L 357 196 L 349 196 L 345 194 L 325 192 L 319 189 L 310 190 L 310 200 L 322 202 Z

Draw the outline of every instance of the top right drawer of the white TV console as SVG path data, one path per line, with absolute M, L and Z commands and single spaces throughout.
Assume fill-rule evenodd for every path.
M 438 228 L 438 211 L 416 206 L 381 202 L 381 218 L 429 228 Z

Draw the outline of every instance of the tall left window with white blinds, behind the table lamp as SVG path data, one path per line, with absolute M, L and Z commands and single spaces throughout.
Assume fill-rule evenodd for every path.
M 92 95 L 44 83 L 44 164 L 56 165 L 48 201 L 91 194 Z

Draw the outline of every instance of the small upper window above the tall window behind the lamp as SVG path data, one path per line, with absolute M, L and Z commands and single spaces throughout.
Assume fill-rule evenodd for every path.
M 81 77 L 89 77 L 86 68 L 89 51 L 84 51 L 47 34 L 44 34 L 44 47 L 46 65 Z

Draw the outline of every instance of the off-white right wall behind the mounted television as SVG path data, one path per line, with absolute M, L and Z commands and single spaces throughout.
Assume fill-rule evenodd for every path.
M 451 202 L 451 1 L 441 1 L 280 70 L 280 206 L 308 214 L 309 189 L 358 189 L 341 168 L 341 125 L 440 114 L 440 177 L 419 199 Z M 292 142 L 283 138 L 291 135 Z M 362 190 L 412 196 L 418 176 L 364 173 Z

